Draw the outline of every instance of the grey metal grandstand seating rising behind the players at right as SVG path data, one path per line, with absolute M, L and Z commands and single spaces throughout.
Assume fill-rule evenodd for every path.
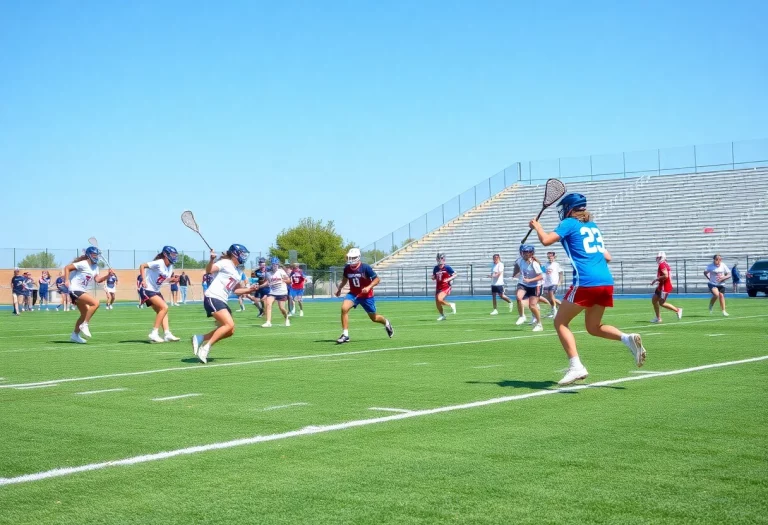
M 667 253 L 678 290 L 689 292 L 706 290 L 702 272 L 715 252 L 729 266 L 740 262 L 742 270 L 747 256 L 753 260 L 768 255 L 768 168 L 575 182 L 568 184 L 568 191 L 587 196 L 614 257 L 617 287 L 623 281 L 619 291 L 649 290 L 659 250 Z M 445 252 L 450 265 L 468 274 L 457 280 L 459 292 L 488 293 L 491 255 L 500 253 L 508 265 L 513 264 L 542 194 L 543 186 L 510 186 L 375 268 L 383 281 L 397 281 L 400 294 L 430 294 L 424 268 L 434 265 L 438 251 Z M 547 230 L 553 229 L 558 223 L 555 209 L 546 211 L 541 221 Z M 546 250 L 535 234 L 529 242 L 543 260 Z M 555 251 L 568 274 L 568 260 L 559 244 Z M 385 279 L 387 275 L 392 279 Z M 390 285 L 381 291 L 395 290 Z

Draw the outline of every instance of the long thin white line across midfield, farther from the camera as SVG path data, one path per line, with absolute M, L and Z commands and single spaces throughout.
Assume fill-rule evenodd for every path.
M 689 325 L 689 324 L 698 324 L 698 323 L 718 323 L 718 322 L 733 322 L 734 320 L 741 320 L 741 319 L 755 319 L 755 318 L 761 318 L 761 317 L 768 317 L 768 314 L 761 314 L 761 315 L 747 315 L 744 317 L 722 317 L 717 319 L 699 319 L 697 321 L 681 321 L 679 323 L 670 323 L 666 325 L 660 325 L 657 326 L 657 328 L 661 327 L 671 327 L 671 326 L 682 326 L 682 325 Z M 638 326 L 626 326 L 623 327 L 622 330 L 632 330 L 632 329 L 643 329 L 648 328 L 647 324 L 644 325 L 638 325 Z M 586 334 L 586 330 L 574 330 L 574 334 Z M 143 376 L 143 375 L 150 375 L 150 374 L 159 374 L 163 372 L 189 372 L 189 371 L 200 371 L 200 370 L 212 370 L 214 368 L 222 367 L 222 366 L 243 366 L 243 365 L 254 365 L 254 364 L 263 364 L 263 363 L 274 363 L 274 362 L 282 362 L 282 361 L 301 361 L 305 359 L 327 359 L 328 357 L 343 357 L 343 356 L 349 356 L 349 355 L 362 355 L 362 354 L 374 354 L 379 352 L 392 352 L 396 350 L 415 350 L 420 348 L 440 348 L 444 346 L 459 346 L 459 345 L 476 345 L 476 344 L 483 344 L 483 343 L 498 343 L 503 341 L 515 341 L 517 339 L 530 339 L 534 337 L 554 337 L 557 333 L 550 331 L 550 332 L 540 332 L 540 333 L 530 333 L 529 335 L 513 335 L 509 337 L 495 337 L 493 339 L 479 339 L 475 341 L 449 341 L 446 343 L 432 343 L 432 344 L 424 344 L 424 345 L 412 345 L 412 346 L 395 346 L 395 347 L 387 347 L 387 348 L 374 348 L 369 350 L 355 350 L 353 352 L 334 352 L 330 354 L 310 354 L 310 355 L 298 355 L 298 356 L 287 356 L 287 357 L 276 357 L 276 358 L 263 358 L 263 359 L 255 359 L 251 361 L 236 361 L 234 363 L 209 363 L 205 366 L 177 366 L 172 368 L 156 368 L 154 370 L 141 370 L 138 372 L 120 372 L 116 374 L 103 374 L 98 376 L 84 376 L 84 377 L 70 377 L 70 378 L 64 378 L 64 379 L 50 379 L 47 381 L 38 381 L 35 383 L 15 383 L 15 384 L 7 384 L 7 385 L 0 385 L 0 389 L 4 388 L 18 388 L 18 387 L 26 387 L 26 386 L 37 386 L 37 385 L 47 385 L 47 384 L 57 384 L 57 383 L 71 383 L 73 381 L 93 381 L 97 379 L 111 379 L 115 377 L 131 377 L 131 376 Z M 642 335 L 642 333 L 640 334 Z M 74 343 L 73 343 L 74 344 Z M 82 346 L 82 345 L 80 345 Z M 415 365 L 428 365 L 429 363 L 415 363 Z

